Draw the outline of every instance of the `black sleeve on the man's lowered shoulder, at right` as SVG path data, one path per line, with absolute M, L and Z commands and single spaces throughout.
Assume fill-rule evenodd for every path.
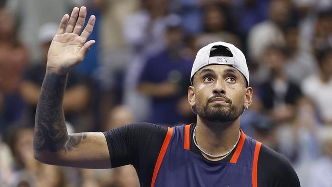
M 257 185 L 258 187 L 298 187 L 300 181 L 286 158 L 262 145 L 258 156 Z

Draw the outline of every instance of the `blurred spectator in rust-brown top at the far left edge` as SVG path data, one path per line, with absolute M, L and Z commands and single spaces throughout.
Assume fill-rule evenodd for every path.
M 29 59 L 28 49 L 16 36 L 15 22 L 0 8 L 0 133 L 23 119 L 25 103 L 19 85 Z

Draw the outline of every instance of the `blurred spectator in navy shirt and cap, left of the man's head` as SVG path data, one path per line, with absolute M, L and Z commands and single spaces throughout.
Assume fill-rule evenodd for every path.
M 179 99 L 186 96 L 192 60 L 181 55 L 184 35 L 177 16 L 169 17 L 166 32 L 167 48 L 150 57 L 140 76 L 138 90 L 152 98 L 149 122 L 163 125 L 183 122 L 177 108 Z M 180 89 L 181 88 L 181 89 Z

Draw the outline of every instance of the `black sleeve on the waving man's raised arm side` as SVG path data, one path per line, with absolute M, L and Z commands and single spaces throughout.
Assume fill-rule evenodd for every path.
M 112 168 L 133 165 L 139 182 L 151 182 L 167 127 L 136 123 L 105 131 Z

